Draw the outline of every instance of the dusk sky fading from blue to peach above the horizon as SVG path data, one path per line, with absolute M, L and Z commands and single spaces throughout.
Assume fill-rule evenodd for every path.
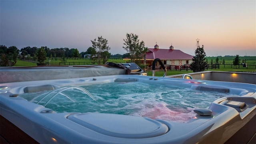
M 194 55 L 196 39 L 207 56 L 256 56 L 256 0 L 0 0 L 0 44 L 77 48 L 108 40 L 125 54 L 126 33 L 148 48 Z

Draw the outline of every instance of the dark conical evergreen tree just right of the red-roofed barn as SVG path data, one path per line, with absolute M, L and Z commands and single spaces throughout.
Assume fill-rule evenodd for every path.
M 190 69 L 193 70 L 193 72 L 202 72 L 205 70 L 206 67 L 206 56 L 204 52 L 204 45 L 202 45 L 202 48 L 198 46 L 198 48 L 195 51 L 195 56 L 192 58 L 193 62 L 190 64 Z

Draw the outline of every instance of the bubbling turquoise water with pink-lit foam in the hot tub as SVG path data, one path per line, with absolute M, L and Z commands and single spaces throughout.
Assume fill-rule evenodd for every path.
M 81 87 L 88 90 L 96 100 L 79 90 L 68 89 L 55 96 L 46 107 L 56 112 L 125 114 L 187 122 L 195 116 L 194 108 L 208 108 L 214 100 L 230 95 L 140 82 L 114 82 Z M 37 95 L 39 93 L 20 96 L 31 100 Z

